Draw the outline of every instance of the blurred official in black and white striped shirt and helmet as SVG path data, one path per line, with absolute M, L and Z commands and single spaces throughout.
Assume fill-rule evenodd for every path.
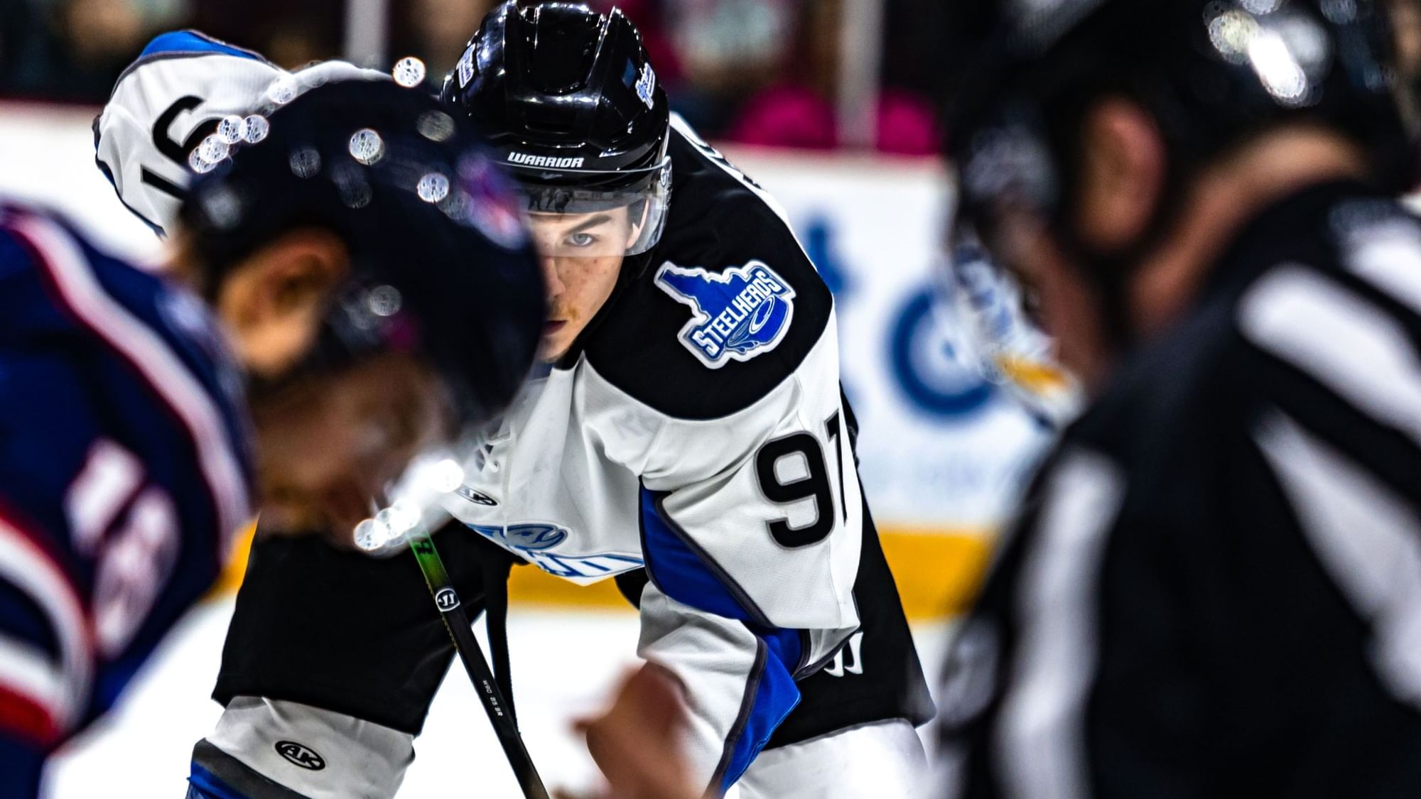
M 1091 394 L 944 796 L 1421 795 L 1421 223 L 1381 3 L 952 6 L 963 219 Z

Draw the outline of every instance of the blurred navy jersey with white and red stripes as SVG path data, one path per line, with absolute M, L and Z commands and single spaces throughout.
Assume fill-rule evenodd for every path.
M 225 530 L 246 518 L 237 408 L 196 327 L 185 338 L 159 321 L 172 299 L 57 219 L 0 209 L 0 736 L 11 754 L 48 752 L 112 705 L 216 579 Z M 222 485 L 209 479 L 219 462 L 233 475 Z

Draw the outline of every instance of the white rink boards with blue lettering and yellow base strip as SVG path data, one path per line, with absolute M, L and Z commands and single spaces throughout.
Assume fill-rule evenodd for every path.
M 0 104 L 0 193 L 57 206 L 119 253 L 155 259 L 158 242 L 94 166 L 92 115 Z M 860 471 L 909 613 L 959 607 L 1046 432 L 953 357 L 935 313 L 948 200 L 939 166 L 780 151 L 726 155 L 784 206 L 834 293 L 844 391 L 860 421 Z M 514 572 L 513 594 L 622 604 L 611 581 L 584 590 L 533 569 Z

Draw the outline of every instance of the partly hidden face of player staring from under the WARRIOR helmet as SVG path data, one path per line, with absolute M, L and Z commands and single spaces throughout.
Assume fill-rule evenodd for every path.
M 556 361 L 597 316 L 639 233 L 627 208 L 598 213 L 533 213 L 529 216 L 547 283 L 549 316 L 541 357 Z

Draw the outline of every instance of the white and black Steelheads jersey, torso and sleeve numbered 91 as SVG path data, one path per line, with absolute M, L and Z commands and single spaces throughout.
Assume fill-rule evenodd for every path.
M 679 122 L 669 151 L 665 237 L 448 509 L 578 583 L 645 564 L 639 654 L 725 788 L 857 628 L 865 513 L 833 297 L 764 192 Z

